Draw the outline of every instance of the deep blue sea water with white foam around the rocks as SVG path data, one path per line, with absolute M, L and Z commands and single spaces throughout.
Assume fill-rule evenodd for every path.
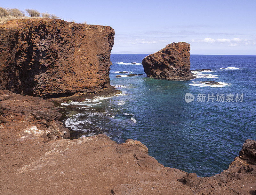
M 126 86 L 117 87 L 123 94 L 68 103 L 79 109 L 66 125 L 83 136 L 104 133 L 118 143 L 139 140 L 160 163 L 198 176 L 227 169 L 244 141 L 256 139 L 256 56 L 191 55 L 191 69 L 213 71 L 190 81 L 152 79 L 146 77 L 141 64 L 117 64 L 141 63 L 145 56 L 111 54 L 110 83 Z M 220 69 L 228 67 L 239 69 Z M 119 71 L 143 76 L 126 77 L 116 73 Z M 200 81 L 222 85 L 207 86 Z M 185 102 L 187 92 L 195 96 L 194 101 Z M 196 101 L 199 93 L 206 94 L 205 102 Z M 236 94 L 244 97 L 243 102 L 216 102 L 216 97 L 214 102 L 206 102 L 208 93 L 231 93 L 234 100 Z

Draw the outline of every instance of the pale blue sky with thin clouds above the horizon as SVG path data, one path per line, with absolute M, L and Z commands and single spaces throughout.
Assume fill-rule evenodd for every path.
M 185 41 L 191 54 L 256 55 L 256 0 L 1 0 L 0 6 L 111 26 L 112 53 L 148 54 Z

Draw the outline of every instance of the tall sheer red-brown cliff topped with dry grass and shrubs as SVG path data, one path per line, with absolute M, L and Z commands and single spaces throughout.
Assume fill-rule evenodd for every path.
M 32 18 L 0 25 L 0 34 L 2 90 L 48 98 L 111 88 L 109 26 Z

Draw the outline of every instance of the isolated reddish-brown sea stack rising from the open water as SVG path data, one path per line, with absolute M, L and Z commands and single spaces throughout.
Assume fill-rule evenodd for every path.
M 190 44 L 171 43 L 160 51 L 146 56 L 142 60 L 147 76 L 176 81 L 195 78 L 190 72 Z

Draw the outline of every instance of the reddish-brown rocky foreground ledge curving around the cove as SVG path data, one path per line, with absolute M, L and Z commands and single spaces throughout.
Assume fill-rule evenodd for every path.
M 51 103 L 0 91 L 0 194 L 255 194 L 256 141 L 212 177 L 164 167 L 140 141 L 75 140 Z

